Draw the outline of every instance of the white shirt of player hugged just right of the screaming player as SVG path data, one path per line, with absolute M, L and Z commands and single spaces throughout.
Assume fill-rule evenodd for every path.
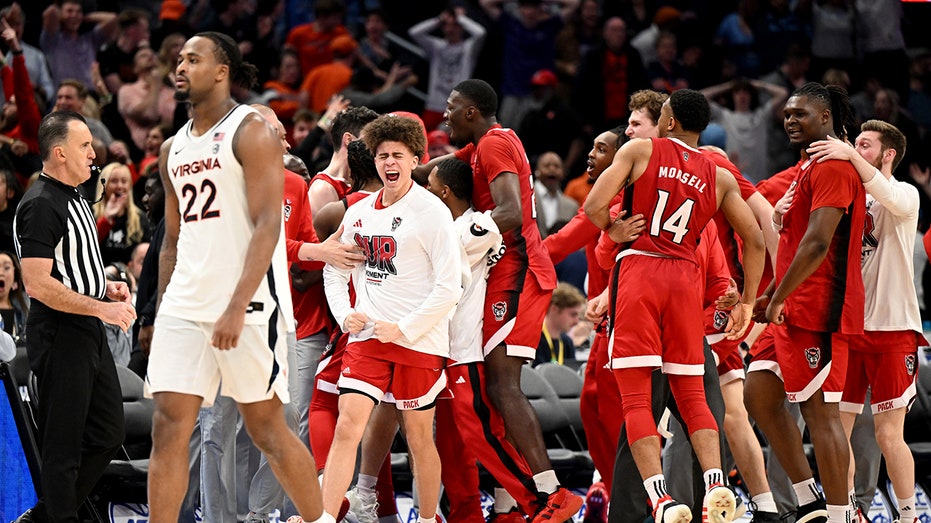
M 450 365 L 485 359 L 482 352 L 482 314 L 488 272 L 504 254 L 501 233 L 491 219 L 491 211 L 480 213 L 469 209 L 456 218 L 455 226 L 471 274 L 468 283 L 463 281 L 465 291 L 449 325 Z

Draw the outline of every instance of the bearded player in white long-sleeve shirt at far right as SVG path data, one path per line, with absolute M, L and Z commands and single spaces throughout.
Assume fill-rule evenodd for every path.
M 895 490 L 898 521 L 914 523 L 915 461 L 902 431 L 905 413 L 915 399 L 918 346 L 927 342 L 921 337 L 914 280 L 902 275 L 914 271 L 918 189 L 892 176 L 905 155 L 906 145 L 905 135 L 895 126 L 867 120 L 860 126 L 855 144 L 856 149 L 828 138 L 808 149 L 812 160 L 818 162 L 849 161 L 867 192 L 861 251 L 865 331 L 862 336 L 850 337 L 840 416 L 849 440 L 856 416 L 863 410 L 866 390 L 870 389 L 876 441 Z M 853 463 L 852 451 L 850 459 Z M 850 488 L 853 476 L 851 466 L 847 481 Z

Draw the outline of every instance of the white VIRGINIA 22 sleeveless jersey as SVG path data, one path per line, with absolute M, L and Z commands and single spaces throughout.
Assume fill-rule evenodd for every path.
M 178 197 L 181 231 L 159 315 L 215 322 L 229 305 L 255 230 L 233 136 L 243 119 L 255 112 L 238 105 L 200 136 L 191 133 L 191 121 L 175 135 L 168 176 Z M 267 323 L 276 307 L 293 331 L 283 223 L 271 266 L 252 297 L 245 322 Z

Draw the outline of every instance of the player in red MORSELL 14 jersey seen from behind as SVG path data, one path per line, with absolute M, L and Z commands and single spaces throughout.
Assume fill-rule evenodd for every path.
M 731 312 L 729 337 L 742 335 L 750 321 L 765 255 L 762 233 L 733 175 L 695 148 L 710 118 L 703 98 L 687 89 L 673 93 L 663 104 L 658 122 L 660 136 L 668 139 L 633 140 L 621 147 L 584 206 L 592 222 L 605 228 L 612 223 L 609 206 L 613 197 L 642 180 L 636 186 L 631 212 L 647 218 L 648 234 L 619 255 L 623 261 L 617 288 L 623 294 L 614 311 L 611 365 L 624 398 L 634 461 L 654 518 L 663 523 L 689 521 L 691 510 L 666 494 L 659 435 L 651 412 L 651 374 L 656 367 L 669 374 L 673 396 L 704 471 L 703 517 L 730 521 L 736 504 L 733 492 L 724 486 L 717 423 L 702 388 L 704 289 L 696 285 L 700 274 L 695 257 L 699 232 L 721 208 L 744 240 L 747 278 L 741 303 Z M 645 288 L 642 282 L 647 280 L 654 285 Z

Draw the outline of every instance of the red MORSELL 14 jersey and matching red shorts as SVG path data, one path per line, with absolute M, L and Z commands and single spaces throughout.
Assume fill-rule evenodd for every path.
M 718 208 L 716 166 L 679 140 L 651 140 L 631 211 L 643 214 L 646 230 L 618 255 L 611 366 L 701 375 L 704 289 L 695 284 L 701 279 L 695 251 Z

